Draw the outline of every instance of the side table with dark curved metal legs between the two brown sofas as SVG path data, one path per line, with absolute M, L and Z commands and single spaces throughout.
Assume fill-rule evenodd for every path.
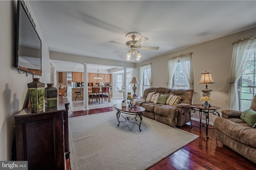
M 220 117 L 220 113 L 217 111 L 220 109 L 220 107 L 216 107 L 216 106 L 212 106 L 209 108 L 204 108 L 202 105 L 199 104 L 194 104 L 194 105 L 190 105 L 191 109 L 189 111 L 189 118 L 190 118 L 190 129 L 188 129 L 189 131 L 191 131 L 192 129 L 192 121 L 191 121 L 191 111 L 193 113 L 195 113 L 196 111 L 199 111 L 199 117 L 200 117 L 200 124 L 199 124 L 199 128 L 201 127 L 205 127 L 204 124 L 202 124 L 202 113 L 204 114 L 205 118 L 206 118 L 206 138 L 208 139 L 208 125 L 209 125 L 209 113 L 212 113 L 213 115 L 217 115 L 218 117 Z M 197 126 L 195 126 L 197 127 Z

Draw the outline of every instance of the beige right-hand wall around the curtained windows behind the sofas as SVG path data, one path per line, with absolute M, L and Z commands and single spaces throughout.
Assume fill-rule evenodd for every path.
M 200 80 L 201 73 L 207 71 L 212 73 L 212 78 L 216 82 L 216 84 L 208 84 L 208 88 L 213 90 L 211 95 L 212 101 L 210 104 L 220 107 L 221 110 L 227 109 L 229 89 L 228 82 L 233 52 L 232 42 L 238 38 L 254 36 L 255 33 L 256 27 L 214 39 L 206 43 L 201 43 L 192 47 L 174 51 L 160 57 L 137 63 L 136 69 L 138 71 L 140 65 L 151 63 L 152 87 L 168 87 L 168 59 L 175 55 L 192 51 L 192 68 L 194 73 L 194 95 L 192 103 L 202 103 L 200 102 L 200 97 L 202 97 L 202 92 L 200 90 L 204 89 L 205 85 L 197 83 Z M 195 113 L 194 117 L 199 118 L 198 113 Z M 216 116 L 214 115 L 212 115 L 212 117 L 210 116 L 210 122 L 213 122 L 215 118 Z

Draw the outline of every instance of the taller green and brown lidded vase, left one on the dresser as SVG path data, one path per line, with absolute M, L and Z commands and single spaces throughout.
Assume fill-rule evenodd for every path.
M 39 81 L 39 78 L 33 78 L 31 83 L 28 83 L 28 93 L 32 112 L 44 110 L 44 83 Z

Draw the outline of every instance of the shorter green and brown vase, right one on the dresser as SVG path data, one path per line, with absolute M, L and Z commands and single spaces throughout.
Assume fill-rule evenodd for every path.
M 58 90 L 53 86 L 52 83 L 48 83 L 47 87 L 44 88 L 44 101 L 46 107 L 57 106 Z

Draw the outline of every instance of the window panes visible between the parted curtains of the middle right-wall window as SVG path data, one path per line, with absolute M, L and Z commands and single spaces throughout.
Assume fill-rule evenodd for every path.
M 189 62 L 189 61 L 188 61 Z M 184 70 L 182 69 L 181 63 L 180 61 L 178 61 L 175 72 L 174 72 L 174 76 L 173 76 L 173 86 L 172 88 L 188 88 L 188 80 L 184 74 Z

